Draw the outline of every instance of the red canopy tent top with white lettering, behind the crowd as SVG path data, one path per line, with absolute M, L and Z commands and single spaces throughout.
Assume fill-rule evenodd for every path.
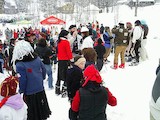
M 66 24 L 65 21 L 63 21 L 57 17 L 54 17 L 54 16 L 50 16 L 50 17 L 42 20 L 40 23 L 42 25 L 64 25 L 64 24 Z

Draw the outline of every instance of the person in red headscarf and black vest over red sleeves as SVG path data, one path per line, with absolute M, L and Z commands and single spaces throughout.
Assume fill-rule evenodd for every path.
M 117 99 L 102 85 L 102 78 L 94 65 L 84 70 L 84 83 L 73 98 L 70 120 L 107 120 L 106 107 L 117 105 Z

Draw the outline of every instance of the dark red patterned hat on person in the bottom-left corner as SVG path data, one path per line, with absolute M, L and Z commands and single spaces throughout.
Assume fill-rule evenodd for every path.
M 7 77 L 0 85 L 0 95 L 3 97 L 15 95 L 18 81 L 18 77 Z

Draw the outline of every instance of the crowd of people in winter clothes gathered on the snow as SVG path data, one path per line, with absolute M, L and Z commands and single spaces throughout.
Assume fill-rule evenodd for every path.
M 103 86 L 100 71 L 111 62 L 110 54 L 114 54 L 114 70 L 124 69 L 125 62 L 135 66 L 147 60 L 147 35 L 144 20 L 136 20 L 134 26 L 120 21 L 112 29 L 96 21 L 71 25 L 59 33 L 30 27 L 11 34 L 7 28 L 6 40 L 0 41 L 0 72 L 6 69 L 19 77 L 18 94 L 23 95 L 27 105 L 27 120 L 44 120 L 52 114 L 44 79 L 48 79 L 48 88 L 54 89 L 56 95 L 68 97 L 70 120 L 107 120 L 107 104 L 116 106 L 117 99 Z M 53 85 L 52 66 L 55 68 L 56 64 L 57 79 Z

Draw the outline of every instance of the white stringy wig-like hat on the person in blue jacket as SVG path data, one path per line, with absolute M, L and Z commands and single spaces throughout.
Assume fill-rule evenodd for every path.
M 16 70 L 15 69 L 16 60 L 23 60 L 23 57 L 28 56 L 29 54 L 34 58 L 34 56 L 32 55 L 33 52 L 34 50 L 29 42 L 25 40 L 16 42 L 13 50 L 13 56 L 12 56 L 14 70 Z

